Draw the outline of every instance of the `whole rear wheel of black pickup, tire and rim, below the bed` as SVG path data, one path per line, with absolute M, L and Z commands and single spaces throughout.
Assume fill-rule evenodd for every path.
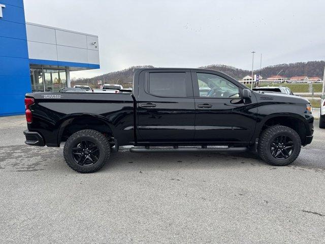
M 108 139 L 95 130 L 82 130 L 70 136 L 64 144 L 67 164 L 79 173 L 100 170 L 108 161 L 111 147 Z

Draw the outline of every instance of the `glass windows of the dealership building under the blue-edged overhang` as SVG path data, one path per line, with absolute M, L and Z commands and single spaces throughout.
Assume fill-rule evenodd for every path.
M 58 92 L 67 87 L 67 70 L 30 68 L 31 91 Z

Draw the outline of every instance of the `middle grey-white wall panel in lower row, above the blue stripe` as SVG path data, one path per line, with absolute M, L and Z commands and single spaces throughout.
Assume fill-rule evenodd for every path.
M 57 58 L 63 62 L 88 64 L 87 49 L 57 46 Z

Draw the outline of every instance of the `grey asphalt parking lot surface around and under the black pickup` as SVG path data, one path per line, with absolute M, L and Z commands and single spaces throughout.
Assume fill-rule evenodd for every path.
M 324 243 L 325 130 L 285 167 L 251 154 L 111 155 L 80 174 L 0 118 L 0 243 Z

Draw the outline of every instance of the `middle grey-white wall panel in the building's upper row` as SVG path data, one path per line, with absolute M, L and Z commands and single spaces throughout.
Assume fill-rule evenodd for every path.
M 56 44 L 69 47 L 79 47 L 87 49 L 87 36 L 73 33 L 55 30 L 56 32 Z

